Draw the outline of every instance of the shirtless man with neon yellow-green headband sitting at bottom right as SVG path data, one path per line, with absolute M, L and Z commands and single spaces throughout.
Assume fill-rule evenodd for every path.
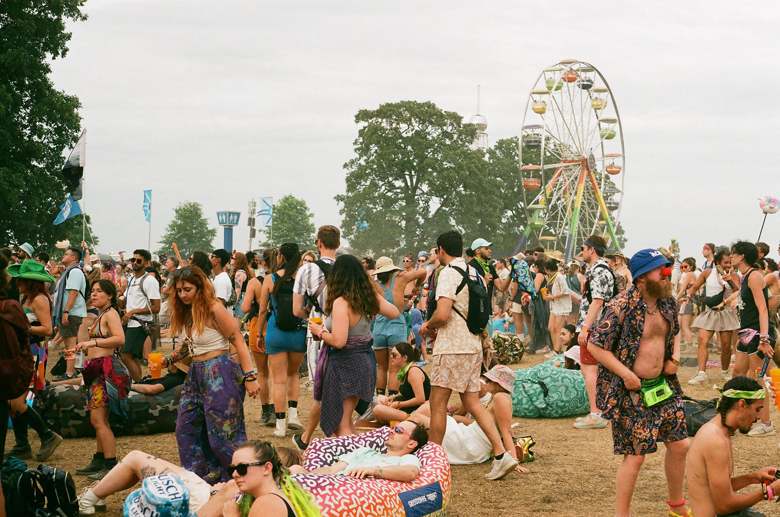
M 744 515 L 760 517 L 750 506 L 764 501 L 764 490 L 736 494 L 762 480 L 772 481 L 772 494 L 780 493 L 780 480 L 775 480 L 777 469 L 765 467 L 750 474 L 732 477 L 734 455 L 732 435 L 739 430 L 747 434 L 764 408 L 764 387 L 750 377 L 734 377 L 723 386 L 718 403 L 718 415 L 705 423 L 690 446 L 687 462 L 690 507 L 696 517 L 717 515 Z M 769 498 L 767 491 L 766 498 Z

